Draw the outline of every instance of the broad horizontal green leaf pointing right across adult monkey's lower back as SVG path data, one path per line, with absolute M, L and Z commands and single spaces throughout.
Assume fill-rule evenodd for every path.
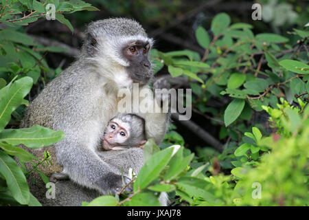
M 65 137 L 63 131 L 54 131 L 35 125 L 26 129 L 5 129 L 0 133 L 0 141 L 8 144 L 24 144 L 30 148 L 40 148 L 59 142 Z

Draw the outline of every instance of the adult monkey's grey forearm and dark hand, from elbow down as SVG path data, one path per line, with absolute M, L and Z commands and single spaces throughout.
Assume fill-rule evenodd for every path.
M 65 134 L 69 136 L 69 131 L 65 131 Z M 58 142 L 55 146 L 58 147 L 58 161 L 71 180 L 104 194 L 113 194 L 123 187 L 121 172 L 104 162 L 91 146 L 69 141 Z M 130 178 L 124 175 L 124 184 L 129 182 Z

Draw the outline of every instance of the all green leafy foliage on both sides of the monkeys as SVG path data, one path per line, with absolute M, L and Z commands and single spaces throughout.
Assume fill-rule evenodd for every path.
M 128 1 L 93 2 L 117 15 L 132 13 Z M 98 197 L 83 206 L 159 206 L 160 192 L 168 192 L 174 206 L 308 206 L 309 31 L 308 25 L 304 27 L 308 16 L 296 14 L 289 3 L 262 2 L 266 2 L 263 19 L 274 33 L 258 33 L 253 25 L 233 23 L 237 19 L 220 13 L 209 25 L 196 28 L 203 56 L 193 50 L 150 52 L 155 73 L 167 69 L 173 78 L 185 78 L 192 88 L 194 112 L 209 119 L 211 127 L 220 128 L 224 150 L 197 146 L 192 153 L 172 124 L 161 146 L 148 140 L 145 165 L 133 179 L 133 193 Z M 36 167 L 49 163 L 49 154 L 45 152 L 39 161 L 17 145 L 38 148 L 63 138 L 62 131 L 41 126 L 8 129 L 21 120 L 32 84 L 45 85 L 62 71 L 49 67 L 45 56 L 67 50 L 44 47 L 23 29 L 46 17 L 48 3 L 54 3 L 56 20 L 71 32 L 67 18 L 73 12 L 89 10 L 91 14 L 79 20 L 85 23 L 98 10 L 80 0 L 1 1 L 0 22 L 6 25 L 0 30 L 1 205 L 41 205 L 29 191 L 25 180 L 29 172 L 23 162 L 32 162 L 30 172 L 40 173 Z M 164 25 L 179 12 L 165 1 L 151 4 L 146 8 L 146 1 L 134 1 L 136 8 L 143 9 L 135 14 L 138 20 L 151 14 L 148 19 Z M 160 8 L 170 14 L 162 17 Z M 299 27 L 288 29 L 286 23 Z M 279 27 L 284 34 L 279 34 Z M 220 105 L 214 106 L 214 100 Z M 256 120 L 266 113 L 265 124 L 271 129 Z

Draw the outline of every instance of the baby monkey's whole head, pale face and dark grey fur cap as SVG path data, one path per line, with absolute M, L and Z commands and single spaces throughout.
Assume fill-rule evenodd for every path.
M 132 113 L 117 115 L 108 122 L 102 141 L 106 151 L 143 148 L 147 142 L 144 118 Z

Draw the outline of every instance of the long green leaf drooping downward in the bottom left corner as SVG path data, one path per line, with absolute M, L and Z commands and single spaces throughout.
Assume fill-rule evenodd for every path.
M 6 184 L 16 201 L 27 204 L 30 201 L 30 190 L 23 171 L 14 159 L 0 151 L 0 173 L 5 177 Z

